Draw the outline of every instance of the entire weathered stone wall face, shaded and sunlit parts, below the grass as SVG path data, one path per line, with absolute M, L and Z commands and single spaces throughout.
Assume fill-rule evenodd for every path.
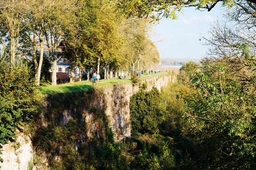
M 161 90 L 173 81 L 175 81 L 174 76 L 154 76 L 142 82 L 147 84 L 147 90 L 151 90 L 152 87 Z M 37 163 L 34 161 L 34 169 L 51 167 L 51 164 L 47 162 L 47 152 L 52 153 L 52 150 L 58 152 L 54 153 L 55 155 L 52 154 L 51 159 L 56 162 L 61 161 L 63 146 L 60 141 L 59 143 L 58 140 L 51 141 L 51 147 L 47 149 L 42 148 L 41 145 L 38 146 L 38 143 L 44 143 L 42 140 L 44 140 L 44 136 L 47 136 L 46 132 L 56 127 L 69 128 L 70 122 L 72 124 L 76 122 L 75 131 L 71 132 L 74 133 L 72 143 L 76 150 L 92 139 L 105 136 L 104 131 L 108 128 L 112 130 L 115 141 L 131 136 L 129 102 L 130 97 L 138 90 L 139 87 L 132 86 L 131 83 L 120 83 L 88 92 L 49 96 L 45 100 L 42 114 L 36 120 L 35 134 L 29 138 L 19 132 L 15 142 L 19 143 L 19 147 L 13 148 L 13 143 L 3 146 L 1 157 L 4 161 L 0 163 L 1 168 L 28 169 L 33 155 L 34 157 L 40 155 L 41 160 Z M 42 157 L 42 155 L 46 156 Z

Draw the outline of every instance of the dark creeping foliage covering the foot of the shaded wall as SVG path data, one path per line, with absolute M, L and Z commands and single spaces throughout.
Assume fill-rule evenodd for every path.
M 120 144 L 113 141 L 111 129 L 102 129 L 102 133 L 100 138 L 84 142 L 79 140 L 86 135 L 83 124 L 51 124 L 38 129 L 33 145 L 38 155 L 47 153 L 54 169 L 126 169 Z M 56 161 L 56 157 L 60 160 Z

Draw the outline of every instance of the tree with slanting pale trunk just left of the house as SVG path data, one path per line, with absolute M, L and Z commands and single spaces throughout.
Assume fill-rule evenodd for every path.
M 23 51 L 24 55 L 32 57 L 36 85 L 40 85 L 44 51 L 47 44 L 45 42 L 46 22 L 49 17 L 49 10 L 53 5 L 54 3 L 49 0 L 30 0 L 28 3 L 29 15 L 25 18 L 29 20 L 30 24 L 26 25 L 25 29 L 20 32 L 20 50 Z

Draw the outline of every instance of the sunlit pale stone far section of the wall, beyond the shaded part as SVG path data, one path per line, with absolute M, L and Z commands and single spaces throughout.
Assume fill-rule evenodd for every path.
M 174 80 L 175 76 L 155 76 L 142 80 L 142 83 L 147 84 L 147 90 L 156 87 L 160 91 Z M 104 88 L 104 105 L 106 108 L 104 112 L 108 117 L 116 141 L 131 136 L 129 104 L 131 96 L 138 90 L 138 85 L 132 86 L 131 83 Z

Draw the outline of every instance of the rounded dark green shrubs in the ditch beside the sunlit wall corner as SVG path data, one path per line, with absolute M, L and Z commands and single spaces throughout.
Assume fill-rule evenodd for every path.
M 132 96 L 132 143 L 137 146 L 132 153 L 138 169 L 193 169 L 186 160 L 189 145 L 183 147 L 189 139 L 181 134 L 184 106 L 177 97 L 186 90 L 175 84 L 161 93 L 155 88 L 141 89 Z

